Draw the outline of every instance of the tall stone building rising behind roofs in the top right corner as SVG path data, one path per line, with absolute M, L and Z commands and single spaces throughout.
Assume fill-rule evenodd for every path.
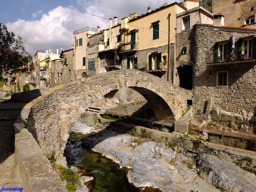
M 256 28 L 256 0 L 212 0 L 212 12 L 224 15 L 225 26 Z

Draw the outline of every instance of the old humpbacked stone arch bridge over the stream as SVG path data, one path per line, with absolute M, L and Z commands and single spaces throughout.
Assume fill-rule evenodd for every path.
M 26 127 L 44 154 L 54 150 L 63 156 L 72 125 L 85 110 L 107 93 L 130 87 L 148 100 L 158 120 L 174 123 L 182 117 L 192 91 L 159 77 L 135 70 L 110 71 L 86 79 L 57 85 L 33 100 Z

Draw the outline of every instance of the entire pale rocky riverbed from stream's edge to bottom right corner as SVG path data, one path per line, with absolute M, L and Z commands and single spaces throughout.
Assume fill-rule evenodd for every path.
M 108 125 L 108 129 L 99 129 L 79 123 L 73 130 L 79 132 L 79 127 L 80 132 L 88 133 L 78 141 L 79 147 L 89 148 L 120 167 L 129 168 L 127 178 L 136 187 L 152 186 L 164 192 L 256 191 L 253 173 L 217 156 L 204 153 L 196 158 L 184 156 L 177 147 L 168 145 L 165 138 L 152 140 L 149 135 L 132 136 L 124 134 L 120 127 L 109 129 Z M 183 133 L 170 134 L 183 137 Z

